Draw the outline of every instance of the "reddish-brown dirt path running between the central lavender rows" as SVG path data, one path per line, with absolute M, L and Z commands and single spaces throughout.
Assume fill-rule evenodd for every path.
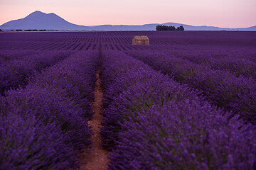
M 100 87 L 100 69 L 97 70 L 97 82 L 95 85 L 95 103 L 92 105 L 92 109 L 95 114 L 92 115 L 92 119 L 88 121 L 90 127 L 92 127 L 92 149 L 88 149 L 80 155 L 81 159 L 81 170 L 101 170 L 107 169 L 107 163 L 109 159 L 107 158 L 109 152 L 104 149 L 101 145 L 102 141 L 100 139 L 100 122 L 102 120 L 102 89 Z M 89 153 L 88 153 L 89 152 Z

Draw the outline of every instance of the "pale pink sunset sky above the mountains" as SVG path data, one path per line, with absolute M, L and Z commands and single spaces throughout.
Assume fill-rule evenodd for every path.
M 192 26 L 256 26 L 256 0 L 0 0 L 0 25 L 33 11 L 55 13 L 83 26 L 183 23 Z

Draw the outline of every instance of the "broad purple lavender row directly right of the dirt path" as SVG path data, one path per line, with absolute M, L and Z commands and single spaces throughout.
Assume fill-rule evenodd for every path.
M 103 52 L 109 169 L 252 169 L 252 125 L 122 52 Z

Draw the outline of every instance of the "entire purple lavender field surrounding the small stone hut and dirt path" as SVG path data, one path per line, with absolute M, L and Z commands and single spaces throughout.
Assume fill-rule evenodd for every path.
M 0 33 L 0 72 L 0 169 L 82 169 L 97 72 L 108 169 L 256 169 L 256 32 Z

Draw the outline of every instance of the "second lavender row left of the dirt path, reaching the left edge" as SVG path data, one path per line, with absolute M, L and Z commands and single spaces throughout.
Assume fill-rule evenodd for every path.
M 11 53 L 11 51 L 9 52 Z M 26 56 L 28 53 L 23 51 L 21 52 L 23 57 L 18 57 L 17 59 L 1 63 L 1 95 L 3 95 L 6 90 L 17 89 L 19 86 L 26 86 L 26 84 L 28 84 L 28 78 L 33 77 L 35 72 L 50 67 L 71 54 L 71 52 L 68 51 L 48 51 L 38 52 L 36 54 L 31 52 L 33 55 Z M 14 54 L 16 54 L 16 52 L 14 52 Z

